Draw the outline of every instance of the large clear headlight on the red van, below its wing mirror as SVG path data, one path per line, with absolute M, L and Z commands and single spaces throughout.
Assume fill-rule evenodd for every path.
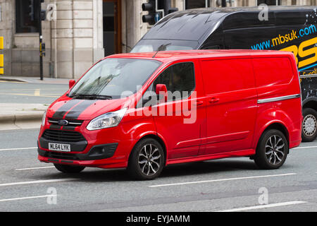
M 87 130 L 105 129 L 118 126 L 126 111 L 127 108 L 124 108 L 116 112 L 101 114 L 101 116 L 94 118 L 89 122 Z

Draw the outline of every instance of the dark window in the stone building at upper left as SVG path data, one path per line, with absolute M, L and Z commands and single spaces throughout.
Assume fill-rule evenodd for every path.
M 17 33 L 39 32 L 40 0 L 15 0 Z

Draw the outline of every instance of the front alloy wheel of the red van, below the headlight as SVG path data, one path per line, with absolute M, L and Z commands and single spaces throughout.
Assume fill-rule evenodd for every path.
M 161 144 L 152 138 L 146 138 L 133 148 L 128 172 L 135 179 L 154 179 L 161 174 L 164 159 Z

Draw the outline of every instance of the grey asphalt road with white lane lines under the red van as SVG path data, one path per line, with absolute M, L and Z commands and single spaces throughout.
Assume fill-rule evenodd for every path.
M 37 160 L 37 133 L 0 132 L 0 211 L 317 211 L 317 141 L 276 170 L 242 157 L 173 165 L 137 182 L 125 169 L 58 172 Z

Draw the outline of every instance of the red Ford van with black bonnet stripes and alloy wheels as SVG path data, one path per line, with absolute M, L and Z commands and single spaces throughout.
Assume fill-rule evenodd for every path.
M 301 143 L 294 55 L 190 50 L 116 54 L 92 66 L 44 114 L 38 159 L 61 172 L 250 157 L 277 169 Z

